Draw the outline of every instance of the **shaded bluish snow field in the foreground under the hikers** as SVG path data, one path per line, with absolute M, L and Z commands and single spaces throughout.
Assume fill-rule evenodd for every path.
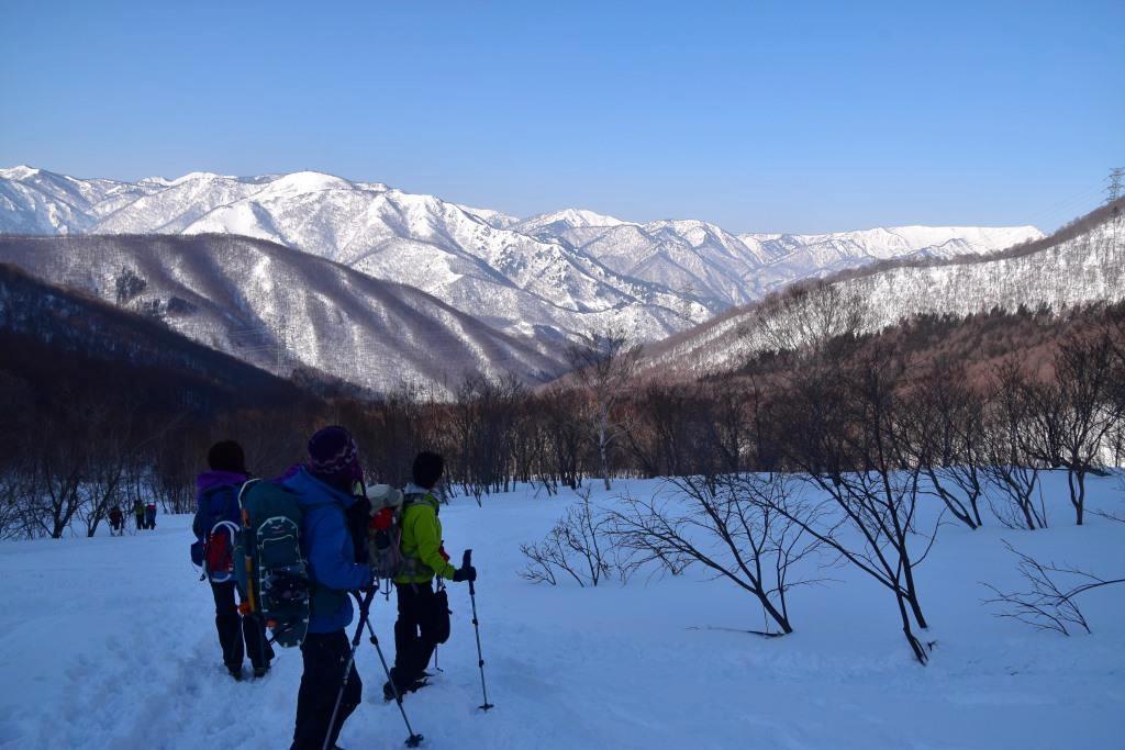
M 595 484 L 596 486 L 596 484 Z M 660 490 L 619 482 L 614 493 Z M 1117 477 L 1091 480 L 1094 508 L 1125 512 Z M 1048 478 L 1052 527 L 1018 532 L 991 516 L 946 525 L 919 568 L 936 640 L 928 667 L 902 638 L 891 595 L 853 569 L 794 589 L 795 633 L 762 639 L 760 608 L 702 569 L 640 575 L 628 586 L 536 586 L 519 545 L 539 541 L 573 494 L 529 489 L 456 498 L 447 548 L 474 549 L 489 698 L 478 712 L 468 590 L 450 585 L 453 635 L 435 685 L 406 699 L 424 747 L 470 748 L 1123 748 L 1125 585 L 1079 599 L 1092 635 L 1065 638 L 993 616 L 980 581 L 1023 588 L 1001 540 L 1041 559 L 1125 576 L 1125 524 L 1076 527 L 1065 481 Z M 598 503 L 612 494 L 595 491 Z M 289 746 L 300 653 L 280 650 L 260 681 L 223 669 L 208 586 L 188 559 L 189 516 L 155 532 L 0 544 L 0 747 L 262 748 Z M 374 621 L 393 652 L 394 600 Z M 728 630 L 730 629 L 730 630 Z M 349 629 L 350 631 L 351 629 Z M 349 635 L 351 633 L 349 632 Z M 249 668 L 249 665 L 248 665 Z M 406 737 L 364 640 L 364 701 L 350 750 Z

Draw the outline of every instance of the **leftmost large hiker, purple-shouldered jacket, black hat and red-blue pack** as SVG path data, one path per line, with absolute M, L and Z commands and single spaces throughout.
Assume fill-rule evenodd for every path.
M 246 481 L 246 460 L 233 440 L 212 445 L 205 471 L 196 478 L 196 535 L 192 560 L 202 564 L 215 598 L 215 629 L 223 648 L 223 663 L 235 679 L 242 679 L 243 653 L 250 657 L 254 677 L 270 668 L 273 650 L 266 640 L 260 617 L 241 617 L 235 605 L 234 546 L 238 534 L 238 489 Z M 240 600 L 242 595 L 240 593 Z M 245 651 L 243 651 L 245 642 Z

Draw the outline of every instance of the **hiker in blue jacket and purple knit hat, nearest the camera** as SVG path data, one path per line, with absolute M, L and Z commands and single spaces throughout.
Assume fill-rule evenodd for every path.
M 308 458 L 306 466 L 281 479 L 281 485 L 297 495 L 303 510 L 300 546 L 313 579 L 308 634 L 300 647 L 305 671 L 297 694 L 291 750 L 321 750 L 325 737 L 327 747 L 335 747 L 344 721 L 360 704 L 363 684 L 353 665 L 332 723 L 344 679 L 342 666 L 351 653 L 344 634 L 352 621 L 348 591 L 372 584 L 371 569 L 356 562 L 345 519 L 358 501 L 354 488 L 363 479 L 356 441 L 343 427 L 325 427 L 308 441 Z

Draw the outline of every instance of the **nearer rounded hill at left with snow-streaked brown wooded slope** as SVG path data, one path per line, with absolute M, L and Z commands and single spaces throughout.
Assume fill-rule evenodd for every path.
M 282 377 L 304 365 L 379 391 L 411 382 L 448 394 L 469 371 L 538 382 L 564 369 L 561 354 L 423 291 L 261 240 L 0 237 L 0 262 L 108 302 L 128 269 L 147 283 L 140 300 L 187 302 L 164 316 L 173 329 Z

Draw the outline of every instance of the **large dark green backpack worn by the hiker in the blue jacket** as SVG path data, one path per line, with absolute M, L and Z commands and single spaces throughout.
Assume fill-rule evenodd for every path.
M 238 493 L 242 531 L 236 552 L 243 615 L 260 616 L 281 647 L 308 632 L 312 580 L 300 553 L 302 509 L 280 485 L 251 480 Z

